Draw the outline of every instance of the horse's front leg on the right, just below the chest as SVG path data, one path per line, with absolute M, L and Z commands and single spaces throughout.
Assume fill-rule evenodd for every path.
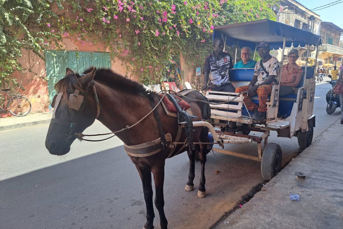
M 155 206 L 158 210 L 159 221 L 161 229 L 167 229 L 168 221 L 164 214 L 164 195 L 163 195 L 163 184 L 164 184 L 164 161 L 159 165 L 152 168 L 155 182 Z

